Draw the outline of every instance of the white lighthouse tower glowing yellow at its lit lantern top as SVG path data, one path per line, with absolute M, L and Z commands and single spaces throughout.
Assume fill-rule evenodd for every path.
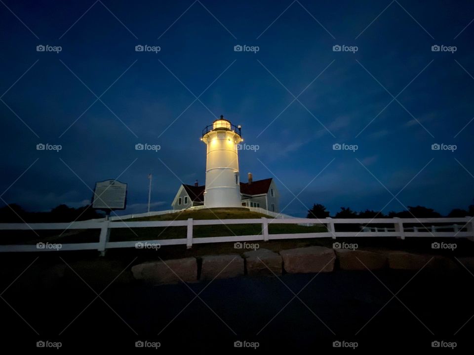
M 243 141 L 240 135 L 240 126 L 222 115 L 202 131 L 201 141 L 207 145 L 204 206 L 208 208 L 242 207 L 237 156 L 237 144 Z

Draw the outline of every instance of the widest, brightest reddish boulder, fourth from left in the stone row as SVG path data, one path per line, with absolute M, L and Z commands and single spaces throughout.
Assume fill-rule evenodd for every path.
M 287 273 L 319 273 L 334 270 L 336 256 L 333 249 L 308 247 L 281 250 L 283 268 Z

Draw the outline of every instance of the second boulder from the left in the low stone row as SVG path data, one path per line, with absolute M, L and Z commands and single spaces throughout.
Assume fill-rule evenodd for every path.
M 202 257 L 200 280 L 228 279 L 243 275 L 243 259 L 237 254 Z

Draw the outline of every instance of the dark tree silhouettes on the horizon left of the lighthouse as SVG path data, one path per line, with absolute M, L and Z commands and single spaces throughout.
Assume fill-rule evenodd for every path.
M 66 205 L 59 205 L 49 212 L 28 212 L 17 204 L 9 204 L 0 208 L 1 223 L 72 222 L 102 217 L 104 217 L 104 214 L 92 209 L 90 205 L 77 209 Z

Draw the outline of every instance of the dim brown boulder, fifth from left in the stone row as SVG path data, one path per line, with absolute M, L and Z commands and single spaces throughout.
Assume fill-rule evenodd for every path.
M 387 265 L 387 256 L 367 250 L 335 249 L 341 270 L 377 270 Z

